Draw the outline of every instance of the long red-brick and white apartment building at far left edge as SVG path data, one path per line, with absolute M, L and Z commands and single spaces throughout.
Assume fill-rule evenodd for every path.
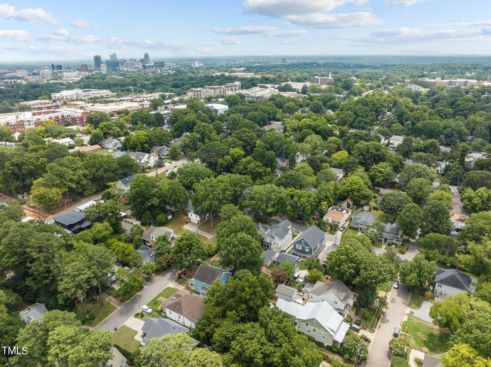
M 29 111 L 0 114 L 0 125 L 8 126 L 15 132 L 24 132 L 29 127 L 41 126 L 43 122 L 53 120 L 57 125 L 69 124 L 83 126 L 88 111 L 66 108 L 62 110 Z

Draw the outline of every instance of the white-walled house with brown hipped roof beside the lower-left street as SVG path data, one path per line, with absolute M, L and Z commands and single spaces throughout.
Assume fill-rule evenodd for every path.
M 192 291 L 177 291 L 162 302 L 162 314 L 184 326 L 194 328 L 203 316 L 203 296 Z

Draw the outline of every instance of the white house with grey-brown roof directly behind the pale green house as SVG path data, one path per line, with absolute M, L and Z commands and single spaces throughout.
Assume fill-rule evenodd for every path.
M 351 309 L 355 303 L 355 295 L 355 292 L 351 292 L 341 280 L 330 283 L 318 281 L 305 285 L 305 296 L 310 302 L 327 302 L 343 318 L 350 313 L 353 315 Z

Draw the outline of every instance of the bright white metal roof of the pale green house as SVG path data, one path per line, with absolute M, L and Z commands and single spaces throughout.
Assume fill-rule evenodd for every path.
M 332 306 L 325 301 L 317 303 L 307 302 L 297 315 L 297 319 L 303 321 L 313 318 L 324 326 L 335 341 L 339 343 L 343 342 L 350 325 L 343 322 L 343 317 Z

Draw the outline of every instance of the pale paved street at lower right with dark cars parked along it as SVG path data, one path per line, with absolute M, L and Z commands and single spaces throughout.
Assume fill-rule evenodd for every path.
M 382 316 L 377 334 L 372 338 L 368 360 L 364 367 L 387 367 L 390 363 L 391 351 L 389 341 L 396 326 L 401 327 L 406 305 L 409 301 L 409 292 L 406 284 L 400 284 L 399 289 L 394 289 L 389 299 L 389 307 Z

